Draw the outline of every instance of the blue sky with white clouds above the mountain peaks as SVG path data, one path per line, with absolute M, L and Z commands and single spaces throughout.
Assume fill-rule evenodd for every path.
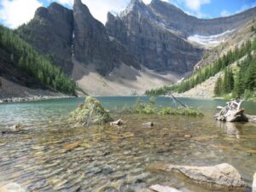
M 72 8 L 73 0 L 0 0 L 0 23 L 15 28 L 31 20 L 40 6 L 58 2 Z M 82 0 L 92 15 L 102 23 L 106 22 L 108 11 L 119 13 L 130 0 Z M 200 18 L 215 18 L 239 13 L 256 6 L 256 0 L 164 0 L 177 5 L 189 15 Z M 151 0 L 143 0 L 150 3 Z

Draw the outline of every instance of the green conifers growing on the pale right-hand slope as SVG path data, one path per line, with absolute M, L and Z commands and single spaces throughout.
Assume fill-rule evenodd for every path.
M 147 90 L 145 94 L 149 96 L 160 96 L 160 95 L 168 94 L 169 91 L 183 93 L 187 90 L 194 88 L 197 84 L 201 84 L 207 79 L 215 76 L 217 73 L 223 70 L 225 70 L 225 77 L 224 79 L 221 80 L 222 82 L 220 82 L 221 84 L 223 84 L 223 86 L 216 88 L 217 95 L 223 94 L 222 92 L 223 88 L 224 88 L 224 93 L 230 92 L 231 90 L 234 90 L 236 92 L 237 80 L 234 80 L 233 73 L 230 72 L 230 70 L 227 69 L 227 67 L 229 67 L 230 64 L 234 63 L 235 61 L 239 61 L 243 56 L 248 55 L 250 60 L 247 59 L 246 61 L 242 62 L 239 65 L 241 66 L 241 73 L 242 72 L 244 73 L 244 70 L 247 70 L 244 68 L 248 66 L 252 66 L 253 64 L 250 64 L 250 63 L 251 62 L 253 63 L 253 61 L 255 62 L 254 57 L 251 54 L 253 50 L 256 50 L 256 38 L 253 40 L 253 42 L 247 41 L 247 43 L 242 44 L 239 49 L 236 48 L 234 50 L 228 51 L 227 54 L 223 55 L 221 58 L 219 58 L 217 61 L 213 62 L 212 64 L 206 67 L 201 67 L 200 69 L 196 70 L 193 74 L 191 74 L 187 79 L 184 79 L 181 83 L 164 86 L 155 90 Z M 231 73 L 232 75 L 230 75 Z M 253 79 L 255 80 L 255 78 L 256 77 L 254 76 L 254 77 L 251 77 L 250 79 L 253 81 Z M 218 79 L 218 81 L 220 81 L 220 79 Z M 230 84 L 230 85 L 227 85 L 227 84 Z M 253 84 L 253 83 L 250 83 L 250 84 Z M 234 96 L 239 96 L 239 94 L 234 93 Z

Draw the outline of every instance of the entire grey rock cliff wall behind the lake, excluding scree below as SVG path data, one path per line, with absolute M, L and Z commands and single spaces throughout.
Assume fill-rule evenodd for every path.
M 226 18 L 200 20 L 160 0 L 149 5 L 131 0 L 120 15 L 108 14 L 103 26 L 81 0 L 75 0 L 73 10 L 57 3 L 39 8 L 34 19 L 17 32 L 69 74 L 73 61 L 93 66 L 102 75 L 122 64 L 183 74 L 192 71 L 205 52 L 191 44 L 189 36 L 234 30 L 254 15 L 255 9 L 249 9 Z

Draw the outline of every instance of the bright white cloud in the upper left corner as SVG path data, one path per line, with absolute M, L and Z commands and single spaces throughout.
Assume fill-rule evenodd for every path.
M 3 25 L 16 28 L 31 20 L 40 6 L 38 0 L 1 0 L 0 20 Z

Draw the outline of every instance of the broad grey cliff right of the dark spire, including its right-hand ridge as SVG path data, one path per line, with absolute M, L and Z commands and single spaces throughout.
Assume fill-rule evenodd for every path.
M 160 0 L 153 0 L 149 5 L 131 0 L 120 15 L 108 14 L 106 27 L 109 35 L 125 44 L 144 66 L 186 73 L 204 54 L 204 49 L 189 43 L 189 36 L 234 30 L 253 15 L 256 15 L 255 9 L 225 18 L 200 20 Z

